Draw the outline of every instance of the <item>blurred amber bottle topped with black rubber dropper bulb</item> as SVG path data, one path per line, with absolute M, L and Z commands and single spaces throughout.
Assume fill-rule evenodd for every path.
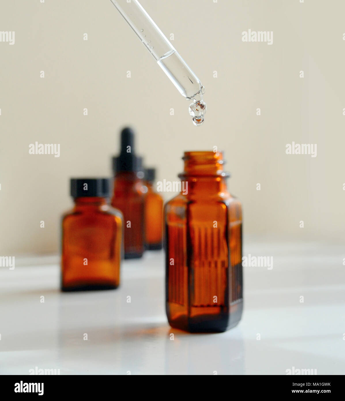
M 123 214 L 125 259 L 141 257 L 145 250 L 145 192 L 142 159 L 134 153 L 134 134 L 121 132 L 121 152 L 113 158 L 113 198 L 111 205 Z

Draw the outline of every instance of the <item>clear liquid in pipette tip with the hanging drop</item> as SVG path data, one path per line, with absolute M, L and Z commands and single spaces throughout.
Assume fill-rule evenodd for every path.
M 195 126 L 202 125 L 207 107 L 202 96 L 205 88 L 201 85 L 198 77 L 175 50 L 160 57 L 157 63 L 181 95 L 187 100 L 192 100 L 189 105 L 189 113 L 193 117 L 193 124 Z

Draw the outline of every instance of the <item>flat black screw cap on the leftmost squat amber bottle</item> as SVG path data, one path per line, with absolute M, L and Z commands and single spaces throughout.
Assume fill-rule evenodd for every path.
M 107 198 L 110 195 L 109 178 L 71 178 L 71 196 L 99 196 Z

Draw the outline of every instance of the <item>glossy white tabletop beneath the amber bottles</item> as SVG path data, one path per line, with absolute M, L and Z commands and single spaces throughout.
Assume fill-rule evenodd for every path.
M 246 241 L 248 253 L 273 269 L 244 268 L 242 320 L 220 334 L 167 324 L 163 251 L 123 261 L 117 290 L 75 293 L 59 292 L 58 257 L 16 258 L 0 268 L 0 373 L 345 374 L 344 247 Z

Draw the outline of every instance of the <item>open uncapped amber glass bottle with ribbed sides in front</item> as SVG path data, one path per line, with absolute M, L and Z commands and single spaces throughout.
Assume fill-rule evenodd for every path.
M 189 332 L 222 332 L 242 315 L 242 207 L 222 153 L 183 159 L 182 192 L 164 212 L 167 318 Z

